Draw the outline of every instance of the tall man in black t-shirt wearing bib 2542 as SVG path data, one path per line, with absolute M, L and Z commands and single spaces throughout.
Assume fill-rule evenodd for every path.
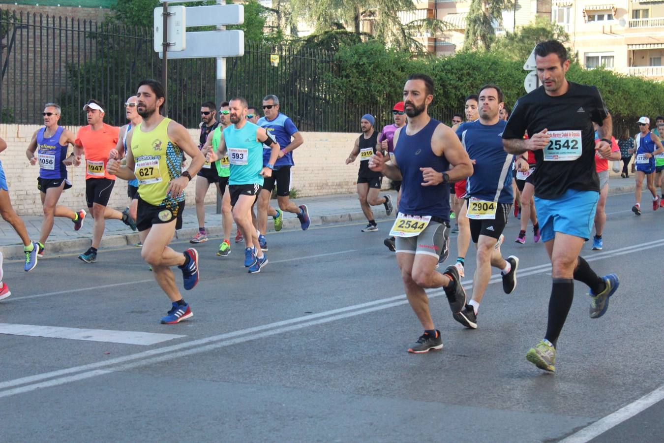
M 595 151 L 611 155 L 612 119 L 595 86 L 568 82 L 570 61 L 560 42 L 535 46 L 537 75 L 543 86 L 519 98 L 503 132 L 505 151 L 535 151 L 535 206 L 540 233 L 552 264 L 552 289 L 546 335 L 526 358 L 555 371 L 556 341 L 572 306 L 574 280 L 590 286 L 590 317 L 604 315 L 618 276 L 598 277 L 579 256 L 590 238 L 600 182 Z M 592 122 L 600 125 L 595 144 Z M 530 138 L 523 139 L 525 131 Z

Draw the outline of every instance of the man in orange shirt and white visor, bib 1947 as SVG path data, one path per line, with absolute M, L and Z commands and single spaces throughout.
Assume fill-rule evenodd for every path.
M 106 163 L 111 149 L 115 149 L 118 143 L 120 128 L 104 123 L 104 108 L 97 100 L 90 100 L 83 106 L 83 110 L 88 113 L 88 126 L 83 126 L 76 133 L 74 150 L 76 155 L 82 153 L 85 156 L 85 196 L 94 227 L 92 246 L 78 258 L 86 263 L 94 263 L 97 261 L 97 248 L 102 241 L 106 219 L 122 220 L 132 230 L 136 230 L 136 225 L 129 218 L 128 211 L 121 213 L 106 207 L 116 183 L 116 176 L 106 171 Z

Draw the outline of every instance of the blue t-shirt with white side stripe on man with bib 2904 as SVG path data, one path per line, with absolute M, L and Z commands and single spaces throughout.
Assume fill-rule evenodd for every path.
M 486 201 L 512 203 L 512 155 L 503 149 L 503 130 L 507 123 L 498 120 L 495 125 L 483 125 L 479 120 L 463 123 L 456 134 L 468 153 L 473 165 L 473 175 L 468 177 L 468 197 Z

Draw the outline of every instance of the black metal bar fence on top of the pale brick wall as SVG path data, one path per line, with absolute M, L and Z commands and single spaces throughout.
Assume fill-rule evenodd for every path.
M 47 102 L 62 107 L 61 124 L 86 124 L 83 104 L 105 106 L 106 122 L 124 124 L 124 102 L 143 78 L 161 78 L 151 29 L 120 27 L 41 14 L 0 15 L 0 122 L 39 124 Z M 373 114 L 391 123 L 391 104 L 347 104 L 329 80 L 338 69 L 321 50 L 245 43 L 242 57 L 226 60 L 227 95 L 260 106 L 266 94 L 303 131 L 359 132 L 359 119 Z M 214 101 L 215 60 L 169 60 L 169 116 L 185 126 L 200 122 L 200 106 Z M 384 101 L 384 100 L 382 100 Z M 449 121 L 450 112 L 444 113 Z

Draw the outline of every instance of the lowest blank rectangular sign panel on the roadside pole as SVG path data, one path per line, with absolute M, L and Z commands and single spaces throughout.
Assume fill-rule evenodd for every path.
M 244 55 L 244 31 L 203 31 L 187 33 L 187 49 L 169 50 L 168 58 L 241 57 Z M 159 52 L 159 58 L 163 53 Z

